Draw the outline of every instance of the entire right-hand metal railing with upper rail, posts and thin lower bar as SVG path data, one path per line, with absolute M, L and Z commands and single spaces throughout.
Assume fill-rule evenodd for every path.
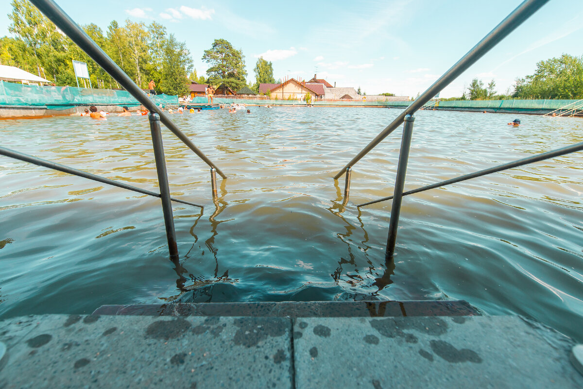
M 473 63 L 478 59 L 482 58 L 491 48 L 498 44 L 503 38 L 508 36 L 512 31 L 514 31 L 520 24 L 522 24 L 526 19 L 532 16 L 540 7 L 545 5 L 549 0 L 525 0 L 521 3 L 514 11 L 510 13 L 505 19 L 494 27 L 490 33 L 488 33 L 479 43 L 477 43 L 470 51 L 468 51 L 458 62 L 455 63 L 447 72 L 444 73 L 436 82 L 433 83 L 426 91 L 423 92 L 421 96 L 416 98 L 403 112 L 396 117 L 391 124 L 389 124 L 384 130 L 382 130 L 366 147 L 363 148 L 348 164 L 343 167 L 338 174 L 334 176 L 337 180 L 345 174 L 350 174 L 352 167 L 356 162 L 360 161 L 369 151 L 373 150 L 375 146 L 382 142 L 385 137 L 392 133 L 401 123 L 405 122 L 403 125 L 403 135 L 401 140 L 401 150 L 399 152 L 399 162 L 397 167 L 397 175 L 395 179 L 394 193 L 392 196 L 383 197 L 379 200 L 370 201 L 368 203 L 359 204 L 359 207 L 366 206 L 368 204 L 378 203 L 379 201 L 393 200 L 391 207 L 391 219 L 389 220 L 389 232 L 387 236 L 387 250 L 385 252 L 385 259 L 387 261 L 392 260 L 395 252 L 395 242 L 396 234 L 399 224 L 399 214 L 401 213 L 401 201 L 402 197 L 409 195 L 411 193 L 416 193 L 415 191 L 409 191 L 403 193 L 403 187 L 405 185 L 405 176 L 407 169 L 407 162 L 409 158 L 409 147 L 411 143 L 411 136 L 413 132 L 413 122 L 415 117 L 413 116 L 415 112 L 424 107 L 427 102 L 437 95 L 442 89 L 444 89 L 449 83 L 451 83 L 456 77 L 461 75 L 466 69 L 468 69 Z M 546 158 L 552 158 L 557 155 L 563 155 L 567 153 L 573 153 L 574 151 L 581 150 L 582 144 L 575 144 L 574 146 L 562 148 L 555 151 L 550 151 L 549 153 L 540 154 L 535 157 L 525 158 L 525 160 L 510 162 L 509 164 L 501 165 L 500 167 L 485 169 L 483 171 L 477 172 L 475 174 L 470 174 L 466 176 L 461 176 L 452 180 L 444 181 L 434 185 L 430 185 L 424 188 L 419 188 L 416 191 L 421 192 L 422 190 L 427 190 L 431 188 L 437 188 L 438 186 L 448 185 L 448 183 L 463 181 L 464 179 L 473 178 L 475 176 L 480 176 L 484 174 L 490 174 L 503 169 L 509 169 L 511 167 L 516 167 L 535 161 L 539 161 Z M 567 150 L 568 149 L 568 150 Z M 540 159 L 539 159 L 540 158 Z M 431 188 L 430 188 L 431 187 Z M 347 202 L 347 196 L 350 188 L 350 178 L 347 175 L 345 183 L 345 199 Z

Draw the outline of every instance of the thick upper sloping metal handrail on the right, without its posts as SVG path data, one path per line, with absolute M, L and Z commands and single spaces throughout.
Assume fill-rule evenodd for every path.
M 38 1 L 38 0 L 37 0 Z M 377 144 L 381 143 L 385 137 L 387 137 L 391 132 L 393 132 L 403 121 L 406 115 L 413 115 L 417 109 L 423 107 L 427 101 L 431 100 L 437 95 L 442 89 L 448 86 L 456 77 L 465 72 L 470 66 L 473 65 L 478 59 L 482 58 L 491 48 L 498 44 L 503 38 L 508 36 L 512 31 L 514 31 L 522 22 L 528 19 L 533 13 L 535 13 L 540 7 L 545 5 L 549 0 L 526 0 L 522 2 L 514 11 L 510 13 L 498 26 L 494 27 L 489 34 L 487 34 L 479 43 L 477 43 L 470 51 L 466 53 L 458 62 L 455 63 L 447 72 L 444 73 L 436 82 L 433 83 L 426 91 L 423 92 L 421 96 L 415 99 L 405 110 L 396 117 L 396 119 L 385 127 L 370 143 L 367 144 L 363 150 L 352 158 L 350 162 L 346 164 L 345 167 L 340 169 L 338 174 L 334 176 L 334 179 L 339 179 L 347 168 L 352 168 L 356 162 L 364 157 L 369 151 L 373 150 Z

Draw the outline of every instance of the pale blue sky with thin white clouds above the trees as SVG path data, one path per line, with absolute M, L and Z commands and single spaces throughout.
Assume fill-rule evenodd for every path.
M 8 0 L 0 0 L 6 13 Z M 505 16 L 517 0 L 384 1 L 152 1 L 101 0 L 58 4 L 79 24 L 106 29 L 111 20 L 156 20 L 185 41 L 199 75 L 203 51 L 215 38 L 243 50 L 248 81 L 259 55 L 279 77 L 318 78 L 367 94 L 416 96 L 429 87 Z M 83 4 L 80 6 L 80 4 Z M 473 77 L 496 81 L 503 93 L 536 62 L 563 53 L 583 55 L 583 9 L 578 0 L 551 0 L 452 82 L 441 97 L 461 96 Z M 0 34 L 9 20 L 0 15 Z

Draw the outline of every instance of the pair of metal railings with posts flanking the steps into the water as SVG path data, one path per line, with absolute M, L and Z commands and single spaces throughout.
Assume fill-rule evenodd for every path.
M 401 212 L 402 197 L 406 195 L 411 195 L 413 193 L 423 192 L 424 190 L 439 188 L 440 186 L 449 185 L 454 182 L 465 181 L 470 178 L 479 177 L 486 174 L 491 174 L 494 172 L 499 172 L 505 169 L 510 169 L 525 164 L 530 164 L 532 162 L 545 160 L 547 158 L 557 157 L 559 155 L 564 155 L 567 153 L 574 153 L 575 151 L 583 150 L 583 142 L 573 144 L 568 147 L 563 147 L 557 150 L 549 151 L 547 153 L 542 153 L 538 155 L 533 155 L 529 158 L 524 158 L 522 160 L 508 162 L 507 164 L 499 165 L 497 167 L 492 167 L 488 169 L 483 169 L 481 171 L 459 176 L 449 180 L 441 181 L 431 185 L 423 186 L 422 188 L 417 188 L 409 190 L 408 192 L 403 192 L 403 187 L 405 184 L 405 176 L 407 163 L 409 159 L 409 149 L 411 144 L 411 137 L 413 133 L 413 122 L 415 122 L 415 112 L 419 109 L 429 108 L 431 109 L 436 105 L 436 103 L 431 103 L 431 99 L 444 89 L 449 83 L 451 83 L 456 77 L 461 75 L 469 66 L 473 65 L 478 59 L 482 58 L 486 52 L 498 44 L 504 37 L 508 36 L 514 29 L 516 29 L 522 22 L 524 22 L 528 17 L 532 16 L 538 9 L 545 5 L 549 0 L 525 0 L 521 3 L 514 11 L 510 13 L 505 19 L 494 27 L 489 34 L 486 35 L 479 43 L 477 43 L 468 53 L 466 53 L 458 62 L 454 64 L 447 72 L 445 72 L 433 85 L 431 85 L 424 93 L 416 98 L 408 107 L 406 107 L 402 114 L 397 116 L 397 118 L 392 121 L 384 130 L 382 130 L 366 147 L 363 148 L 348 164 L 343 167 L 338 174 L 334 176 L 337 180 L 343 174 L 346 174 L 345 180 L 345 190 L 343 204 L 346 204 L 349 199 L 350 193 L 350 178 L 352 176 L 352 167 L 356 162 L 364 157 L 369 151 L 371 151 L 375 146 L 377 146 L 385 137 L 392 133 L 398 126 L 403 123 L 403 135 L 401 139 L 401 148 L 399 151 L 399 161 L 397 166 L 397 173 L 395 179 L 395 187 L 392 196 L 383 197 L 381 199 L 368 201 L 368 203 L 358 204 L 357 207 L 364 207 L 369 204 L 378 203 L 380 201 L 392 200 L 391 216 L 389 219 L 389 232 L 387 238 L 387 249 L 385 250 L 385 260 L 390 261 L 393 259 L 395 253 L 395 243 L 396 243 L 396 232 L 399 224 L 399 214 Z M 164 112 L 157 107 L 155 102 L 148 98 L 142 89 L 140 89 L 124 72 L 119 66 L 115 64 L 107 56 L 107 54 L 96 44 L 94 41 L 87 36 L 85 31 L 83 31 L 78 24 L 73 22 L 71 17 L 66 15 L 66 13 L 59 8 L 57 3 L 52 0 L 31 0 L 31 2 L 37 6 L 41 12 L 52 20 L 61 31 L 63 31 L 69 38 L 73 40 L 80 48 L 83 49 L 98 65 L 101 66 L 106 72 L 113 77 L 118 83 L 120 83 L 129 93 L 132 94 L 141 102 L 141 104 L 150 111 L 150 130 L 152 132 L 152 143 L 154 148 L 154 157 L 156 159 L 156 171 L 158 175 L 158 181 L 160 186 L 160 193 L 149 192 L 147 190 L 135 188 L 133 186 L 115 182 L 113 180 L 103 178 L 97 175 L 89 174 L 87 172 L 81 172 L 76 169 L 69 167 L 64 167 L 63 165 L 55 164 L 54 162 L 40 160 L 36 157 L 31 157 L 30 155 L 20 154 L 12 150 L 5 148 L 0 148 L 0 154 L 7 155 L 9 157 L 17 158 L 19 160 L 31 162 L 33 164 L 41 165 L 44 167 L 57 169 L 70 174 L 82 176 L 85 178 L 93 179 L 95 181 L 108 183 L 109 185 L 115 185 L 120 188 L 134 190 L 135 192 L 143 193 L 149 196 L 160 197 L 162 201 L 162 208 L 164 213 L 164 221 L 166 224 L 166 235 L 168 240 L 168 251 L 170 253 L 170 258 L 173 260 L 178 260 L 178 249 L 176 242 L 176 235 L 174 231 L 174 221 L 172 215 L 171 201 L 178 201 L 184 204 L 190 204 L 192 206 L 202 207 L 194 203 L 189 203 L 187 201 L 174 199 L 170 197 L 170 190 L 168 188 L 168 178 L 166 173 L 166 163 L 164 161 L 164 149 L 162 146 L 162 139 L 160 135 L 160 122 L 164 124 L 171 132 L 174 133 L 186 146 L 188 146 L 196 155 L 198 155 L 206 164 L 210 166 L 211 172 L 211 189 L 213 200 L 217 199 L 217 184 L 216 184 L 216 174 L 226 178 L 226 175 L 205 154 L 199 150 L 188 137 L 181 132 L 180 129 L 164 114 Z M 429 104 L 428 104 L 429 103 Z

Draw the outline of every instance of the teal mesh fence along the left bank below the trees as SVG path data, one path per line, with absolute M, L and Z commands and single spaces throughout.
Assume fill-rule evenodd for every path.
M 178 96 L 161 94 L 157 99 L 178 104 Z M 0 82 L 2 105 L 66 109 L 76 105 L 139 105 L 128 91 L 112 89 L 85 89 L 69 86 L 36 86 Z

